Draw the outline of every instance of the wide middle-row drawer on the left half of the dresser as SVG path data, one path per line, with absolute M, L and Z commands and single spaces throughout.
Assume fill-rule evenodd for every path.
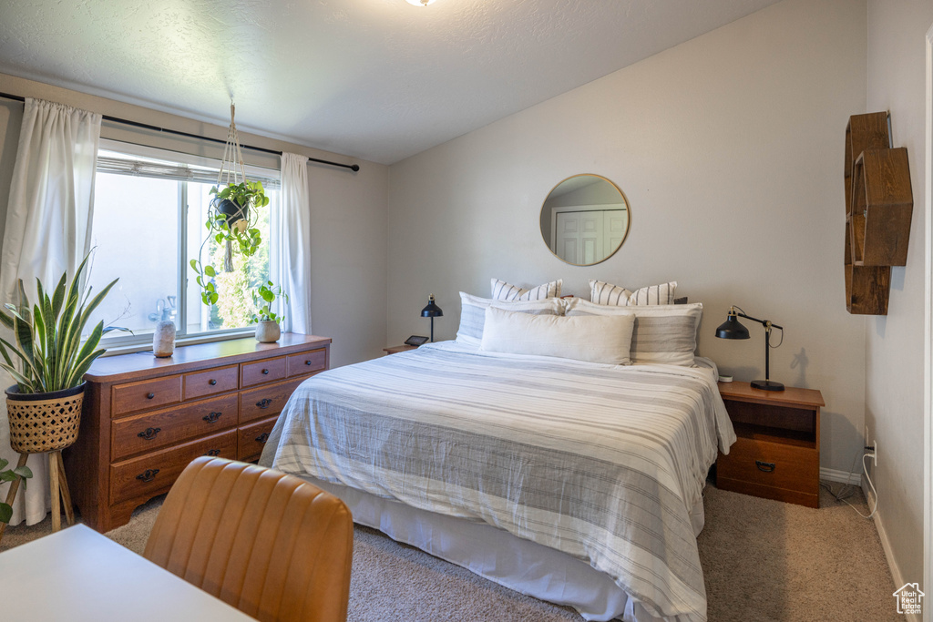
M 236 425 L 240 399 L 214 399 L 124 417 L 110 424 L 110 455 L 120 460 L 141 451 L 161 449 Z

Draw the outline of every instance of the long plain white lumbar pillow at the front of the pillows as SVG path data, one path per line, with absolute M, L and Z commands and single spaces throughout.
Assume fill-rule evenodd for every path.
M 561 317 L 491 306 L 486 309 L 480 350 L 629 365 L 634 319 L 632 313 Z

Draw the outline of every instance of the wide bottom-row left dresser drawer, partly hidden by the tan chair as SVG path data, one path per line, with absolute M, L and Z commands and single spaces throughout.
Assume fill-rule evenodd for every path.
M 236 460 L 236 430 L 161 449 L 110 467 L 110 503 L 151 498 L 172 488 L 192 460 L 212 455 Z

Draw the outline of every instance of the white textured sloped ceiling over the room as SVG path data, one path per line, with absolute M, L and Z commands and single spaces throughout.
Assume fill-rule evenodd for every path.
M 392 163 L 775 0 L 0 0 L 0 72 Z

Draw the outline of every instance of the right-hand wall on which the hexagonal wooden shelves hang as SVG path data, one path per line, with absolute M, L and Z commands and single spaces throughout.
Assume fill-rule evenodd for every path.
M 913 218 L 907 266 L 891 272 L 887 315 L 865 325 L 865 420 L 870 441 L 878 441 L 873 477 L 895 579 L 922 582 L 925 73 L 933 3 L 870 0 L 868 18 L 867 109 L 889 110 L 894 145 L 907 147 Z

